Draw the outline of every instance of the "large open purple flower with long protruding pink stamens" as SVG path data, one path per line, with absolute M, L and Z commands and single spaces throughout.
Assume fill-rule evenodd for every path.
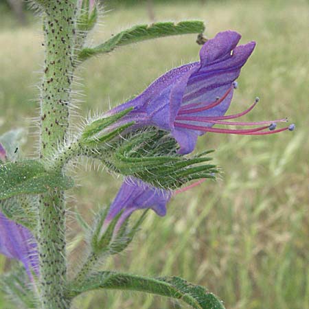
M 192 152 L 198 135 L 205 132 L 265 135 L 293 130 L 293 125 L 275 130 L 276 123 L 286 122 L 286 119 L 249 123 L 226 121 L 249 113 L 258 102 L 255 100 L 241 113 L 225 116 L 231 104 L 233 89 L 237 86 L 235 80 L 255 47 L 254 42 L 236 46 L 240 37 L 237 32 L 220 32 L 203 45 L 199 62 L 168 71 L 137 98 L 113 108 L 108 114 L 133 106 L 134 110 L 122 122 L 134 120 L 138 126 L 155 125 L 168 130 L 179 142 L 181 154 Z M 258 127 L 212 128 L 214 124 Z M 268 128 L 270 130 L 266 130 Z

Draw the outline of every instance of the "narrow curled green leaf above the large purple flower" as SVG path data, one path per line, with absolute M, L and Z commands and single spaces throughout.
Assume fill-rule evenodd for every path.
M 161 38 L 163 36 L 174 36 L 179 34 L 202 33 L 205 30 L 203 21 L 181 21 L 180 23 L 164 22 L 152 23 L 151 25 L 135 25 L 134 27 L 119 32 L 108 41 L 95 46 L 85 47 L 79 54 L 79 60 L 85 60 L 93 55 L 111 52 L 119 46 L 138 43 Z

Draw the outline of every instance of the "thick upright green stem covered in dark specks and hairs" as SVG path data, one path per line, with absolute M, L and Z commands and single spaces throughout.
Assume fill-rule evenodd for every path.
M 48 162 L 58 145 L 65 142 L 69 126 L 76 1 L 46 1 L 44 10 L 41 158 Z M 46 168 L 53 168 L 48 163 L 46 165 Z M 67 258 L 64 192 L 43 194 L 38 214 L 41 308 L 69 308 L 69 301 L 65 299 Z

